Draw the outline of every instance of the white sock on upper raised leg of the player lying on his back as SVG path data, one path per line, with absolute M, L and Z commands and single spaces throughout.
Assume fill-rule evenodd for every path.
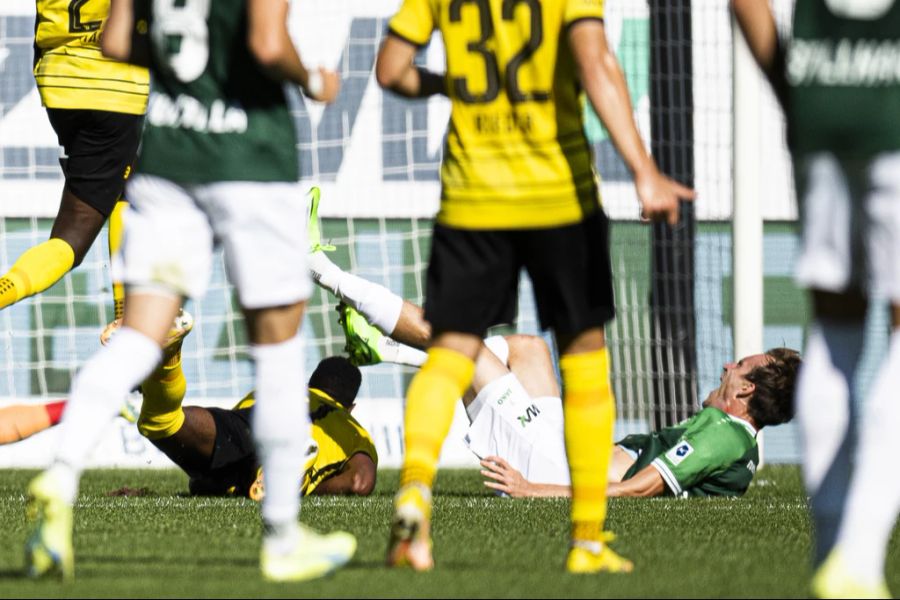
M 343 271 L 324 252 L 309 255 L 309 269 L 313 280 L 359 311 L 379 331 L 393 333 L 400 321 L 403 298 L 383 285 Z

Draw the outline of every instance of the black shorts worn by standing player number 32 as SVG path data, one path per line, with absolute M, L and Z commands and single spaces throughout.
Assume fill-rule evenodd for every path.
M 479 337 L 488 327 L 512 323 L 523 267 L 545 329 L 575 335 L 613 318 L 609 219 L 597 211 L 580 223 L 547 229 L 435 225 L 425 319 L 436 333 Z

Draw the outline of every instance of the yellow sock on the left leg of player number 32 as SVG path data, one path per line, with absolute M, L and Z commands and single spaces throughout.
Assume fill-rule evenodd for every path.
M 456 402 L 472 382 L 475 363 L 454 350 L 432 348 L 406 392 L 404 443 L 406 456 L 400 485 L 434 482 L 444 438 L 450 431 Z

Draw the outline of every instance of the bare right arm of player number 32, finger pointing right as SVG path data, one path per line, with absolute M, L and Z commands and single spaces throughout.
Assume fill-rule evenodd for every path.
M 586 19 L 573 24 L 569 28 L 569 45 L 588 99 L 634 175 L 641 216 L 675 225 L 679 199 L 693 200 L 696 194 L 662 175 L 644 147 L 634 122 L 625 76 L 606 42 L 603 23 Z

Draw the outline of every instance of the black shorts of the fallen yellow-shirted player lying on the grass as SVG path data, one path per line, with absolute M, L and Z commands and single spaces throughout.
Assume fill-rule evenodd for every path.
M 189 489 L 202 496 L 246 496 L 259 468 L 250 431 L 252 407 L 207 410 L 216 424 L 216 445 L 209 468 L 191 477 Z

